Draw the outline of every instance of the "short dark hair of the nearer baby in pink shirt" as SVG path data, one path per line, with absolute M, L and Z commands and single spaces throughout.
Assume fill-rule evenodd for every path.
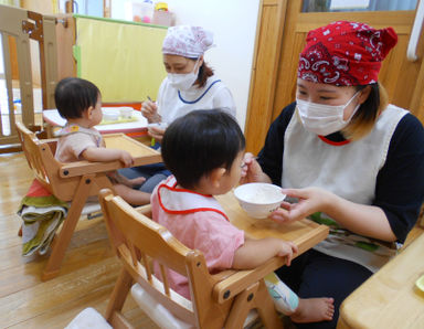
M 176 119 L 161 144 L 165 164 L 186 189 L 216 168 L 230 170 L 244 148 L 237 121 L 222 109 L 193 110 Z

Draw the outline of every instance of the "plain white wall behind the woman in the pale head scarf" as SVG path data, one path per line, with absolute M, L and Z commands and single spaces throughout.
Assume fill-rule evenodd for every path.
M 125 3 L 113 0 L 113 18 L 125 19 Z M 155 1 L 153 1 L 155 2 Z M 214 33 L 204 57 L 233 94 L 244 129 L 259 0 L 168 0 L 176 24 L 200 25 Z

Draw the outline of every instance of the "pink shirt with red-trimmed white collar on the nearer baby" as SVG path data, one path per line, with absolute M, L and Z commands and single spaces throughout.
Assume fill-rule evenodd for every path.
M 171 176 L 156 187 L 151 195 L 153 220 L 187 247 L 201 251 L 210 273 L 231 268 L 235 251 L 244 244 L 244 232 L 230 223 L 215 198 L 176 185 Z M 161 277 L 157 264 L 155 273 Z M 191 299 L 187 278 L 172 270 L 168 275 L 171 288 Z

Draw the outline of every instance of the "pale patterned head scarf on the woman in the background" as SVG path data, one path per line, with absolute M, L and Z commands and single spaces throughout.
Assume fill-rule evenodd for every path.
M 198 59 L 213 46 L 213 34 L 201 26 L 179 25 L 168 29 L 162 53 Z

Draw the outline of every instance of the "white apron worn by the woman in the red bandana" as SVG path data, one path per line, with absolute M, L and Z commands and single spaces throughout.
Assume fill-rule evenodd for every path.
M 296 109 L 284 138 L 282 187 L 319 187 L 349 201 L 371 204 L 377 176 L 384 166 L 393 132 L 407 113 L 389 105 L 368 136 L 335 146 L 306 130 Z M 386 263 L 394 253 L 342 227 L 330 230 L 329 237 L 318 244 L 316 250 L 359 263 L 372 272 Z

